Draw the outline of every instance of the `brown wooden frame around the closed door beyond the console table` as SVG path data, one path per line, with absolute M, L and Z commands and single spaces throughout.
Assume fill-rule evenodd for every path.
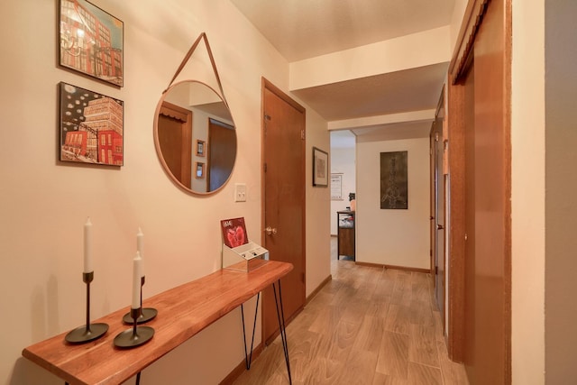
M 301 175 L 302 175 L 302 183 L 303 183 L 303 188 L 305 188 L 305 197 L 307 196 L 307 179 L 306 179 L 306 175 L 307 175 L 307 153 L 306 153 L 306 129 L 307 129 L 307 109 L 305 107 L 303 107 L 302 105 L 299 105 L 298 102 L 296 102 L 295 100 L 293 100 L 289 95 L 285 94 L 279 87 L 276 87 L 274 84 L 272 84 L 272 82 L 270 82 L 270 80 L 268 80 L 267 78 L 262 77 L 261 78 L 261 244 L 264 244 L 264 232 L 265 232 L 265 226 L 266 226 L 266 216 L 265 216 L 265 201 L 266 201 L 266 197 L 265 197 L 265 149 L 264 149 L 264 135 L 265 135 L 265 125 L 266 125 L 266 117 L 265 117 L 265 111 L 264 111 L 264 94 L 265 94 L 265 90 L 269 90 L 271 93 L 273 93 L 275 96 L 279 96 L 280 99 L 282 99 L 284 102 L 286 102 L 287 104 L 291 105 L 293 108 L 295 108 L 298 112 L 302 113 L 303 115 L 303 119 L 304 119 L 304 126 L 303 126 L 303 133 L 301 133 L 303 140 L 302 142 L 302 147 L 301 147 L 301 152 L 302 152 L 302 157 L 303 157 L 303 161 L 302 161 L 302 169 L 301 169 Z M 302 266 L 303 266 L 303 290 L 301 296 L 302 296 L 302 304 L 303 306 L 300 307 L 294 315 L 290 316 L 288 319 L 285 319 L 285 322 L 287 325 L 289 325 L 289 323 L 295 318 L 295 316 L 298 316 L 298 314 L 302 311 L 302 309 L 304 308 L 306 302 L 307 302 L 307 199 L 305 198 L 305 200 L 303 201 L 303 205 L 302 205 L 302 250 L 301 250 L 301 255 L 302 255 Z M 261 327 L 261 343 L 262 344 L 266 344 L 265 341 L 265 330 L 264 330 L 264 317 L 266 315 L 266 312 L 264 310 L 264 302 L 262 304 L 262 311 L 261 311 L 261 325 L 263 325 L 263 327 Z M 276 338 L 276 336 L 279 334 L 279 331 L 277 331 L 273 337 L 270 337 L 270 341 L 272 341 L 274 338 Z

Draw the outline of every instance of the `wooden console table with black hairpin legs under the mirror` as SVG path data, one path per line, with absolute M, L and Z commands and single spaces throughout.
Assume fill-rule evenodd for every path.
M 119 349 L 113 342 L 114 336 L 132 327 L 123 324 L 122 318 L 129 310 L 129 307 L 124 307 L 93 321 L 110 326 L 100 339 L 87 344 L 68 344 L 64 340 L 67 332 L 33 344 L 25 348 L 22 354 L 69 384 L 120 384 L 256 296 L 262 289 L 270 285 L 274 288 L 274 284 L 280 283 L 280 278 L 292 269 L 292 264 L 287 262 L 267 261 L 250 272 L 218 270 L 144 300 L 143 307 L 158 310 L 158 316 L 145 324 L 153 327 L 155 334 L 151 341 L 133 349 Z M 284 319 L 282 325 L 280 321 L 279 317 L 282 335 Z M 286 335 L 283 345 L 286 345 Z M 290 380 L 286 347 L 285 359 Z

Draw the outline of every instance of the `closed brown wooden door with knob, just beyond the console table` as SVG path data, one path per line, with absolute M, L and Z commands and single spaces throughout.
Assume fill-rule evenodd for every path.
M 281 280 L 287 320 L 305 305 L 305 109 L 263 80 L 263 227 L 270 259 L 294 269 Z M 278 332 L 271 289 L 263 292 L 263 341 Z

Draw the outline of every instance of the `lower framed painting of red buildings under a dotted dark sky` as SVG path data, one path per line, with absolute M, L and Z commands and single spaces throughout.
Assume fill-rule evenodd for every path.
M 60 160 L 124 165 L 124 102 L 60 82 Z

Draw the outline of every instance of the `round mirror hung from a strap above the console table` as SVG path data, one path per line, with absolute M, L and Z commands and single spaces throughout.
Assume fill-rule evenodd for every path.
M 170 179 L 188 192 L 214 193 L 233 173 L 233 117 L 222 97 L 199 81 L 175 83 L 160 97 L 154 144 Z

